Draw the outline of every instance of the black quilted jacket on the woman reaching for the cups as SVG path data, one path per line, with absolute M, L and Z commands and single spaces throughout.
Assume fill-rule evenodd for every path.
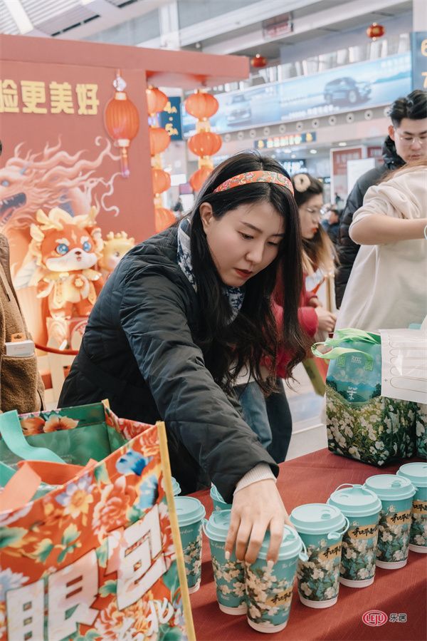
M 214 382 L 194 344 L 199 301 L 176 262 L 176 228 L 134 247 L 97 299 L 59 406 L 110 399 L 122 418 L 167 425 L 172 474 L 185 493 L 236 483 L 273 458 Z

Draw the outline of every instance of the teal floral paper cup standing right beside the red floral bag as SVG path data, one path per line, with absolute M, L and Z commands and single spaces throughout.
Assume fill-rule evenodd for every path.
M 175 508 L 184 552 L 187 585 L 189 593 L 192 594 L 200 588 L 201 526 L 206 511 L 199 499 L 192 496 L 176 496 Z

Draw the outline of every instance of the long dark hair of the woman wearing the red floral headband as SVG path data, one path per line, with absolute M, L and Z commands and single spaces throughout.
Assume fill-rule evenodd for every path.
M 251 376 L 265 393 L 274 389 L 276 354 L 283 347 L 290 354 L 288 376 L 304 357 L 307 339 L 298 322 L 302 289 L 302 247 L 300 218 L 292 193 L 282 185 L 250 183 L 214 193 L 218 185 L 241 173 L 270 170 L 288 174 L 281 165 L 257 152 L 242 152 L 225 160 L 201 188 L 191 216 L 191 260 L 196 278 L 202 317 L 196 342 L 204 352 L 205 364 L 216 383 L 231 390 L 238 371 L 248 366 Z M 229 322 L 231 307 L 223 295 L 223 282 L 209 251 L 200 216 L 200 205 L 208 202 L 214 217 L 220 219 L 239 205 L 267 201 L 285 219 L 285 235 L 278 256 L 248 280 L 241 311 Z M 281 272 L 280 277 L 278 272 Z M 272 312 L 272 294 L 276 279 L 283 282 L 283 328 L 279 332 Z M 263 357 L 268 357 L 270 376 L 260 371 Z

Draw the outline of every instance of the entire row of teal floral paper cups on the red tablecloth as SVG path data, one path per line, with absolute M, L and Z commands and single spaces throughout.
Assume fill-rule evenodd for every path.
M 330 607 L 337 602 L 339 583 L 364 588 L 373 583 L 376 565 L 401 568 L 408 548 L 427 551 L 425 463 L 408 463 L 397 476 L 371 476 L 364 486 L 346 483 L 327 503 L 292 510 L 296 531 L 285 526 L 273 568 L 266 560 L 268 533 L 252 565 L 239 563 L 234 555 L 226 560 L 231 506 L 214 487 L 211 498 L 215 509 L 209 521 L 204 521 L 204 507 L 196 498 L 176 499 L 189 589 L 194 592 L 200 585 L 204 523 L 219 607 L 228 614 L 247 612 L 249 625 L 262 632 L 277 632 L 288 622 L 295 574 L 304 605 Z

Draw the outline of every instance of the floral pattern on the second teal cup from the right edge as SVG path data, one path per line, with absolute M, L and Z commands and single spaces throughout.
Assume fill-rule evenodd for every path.
M 396 563 L 408 558 L 411 511 L 397 512 L 390 505 L 381 511 L 379 518 L 376 559 L 383 563 Z

